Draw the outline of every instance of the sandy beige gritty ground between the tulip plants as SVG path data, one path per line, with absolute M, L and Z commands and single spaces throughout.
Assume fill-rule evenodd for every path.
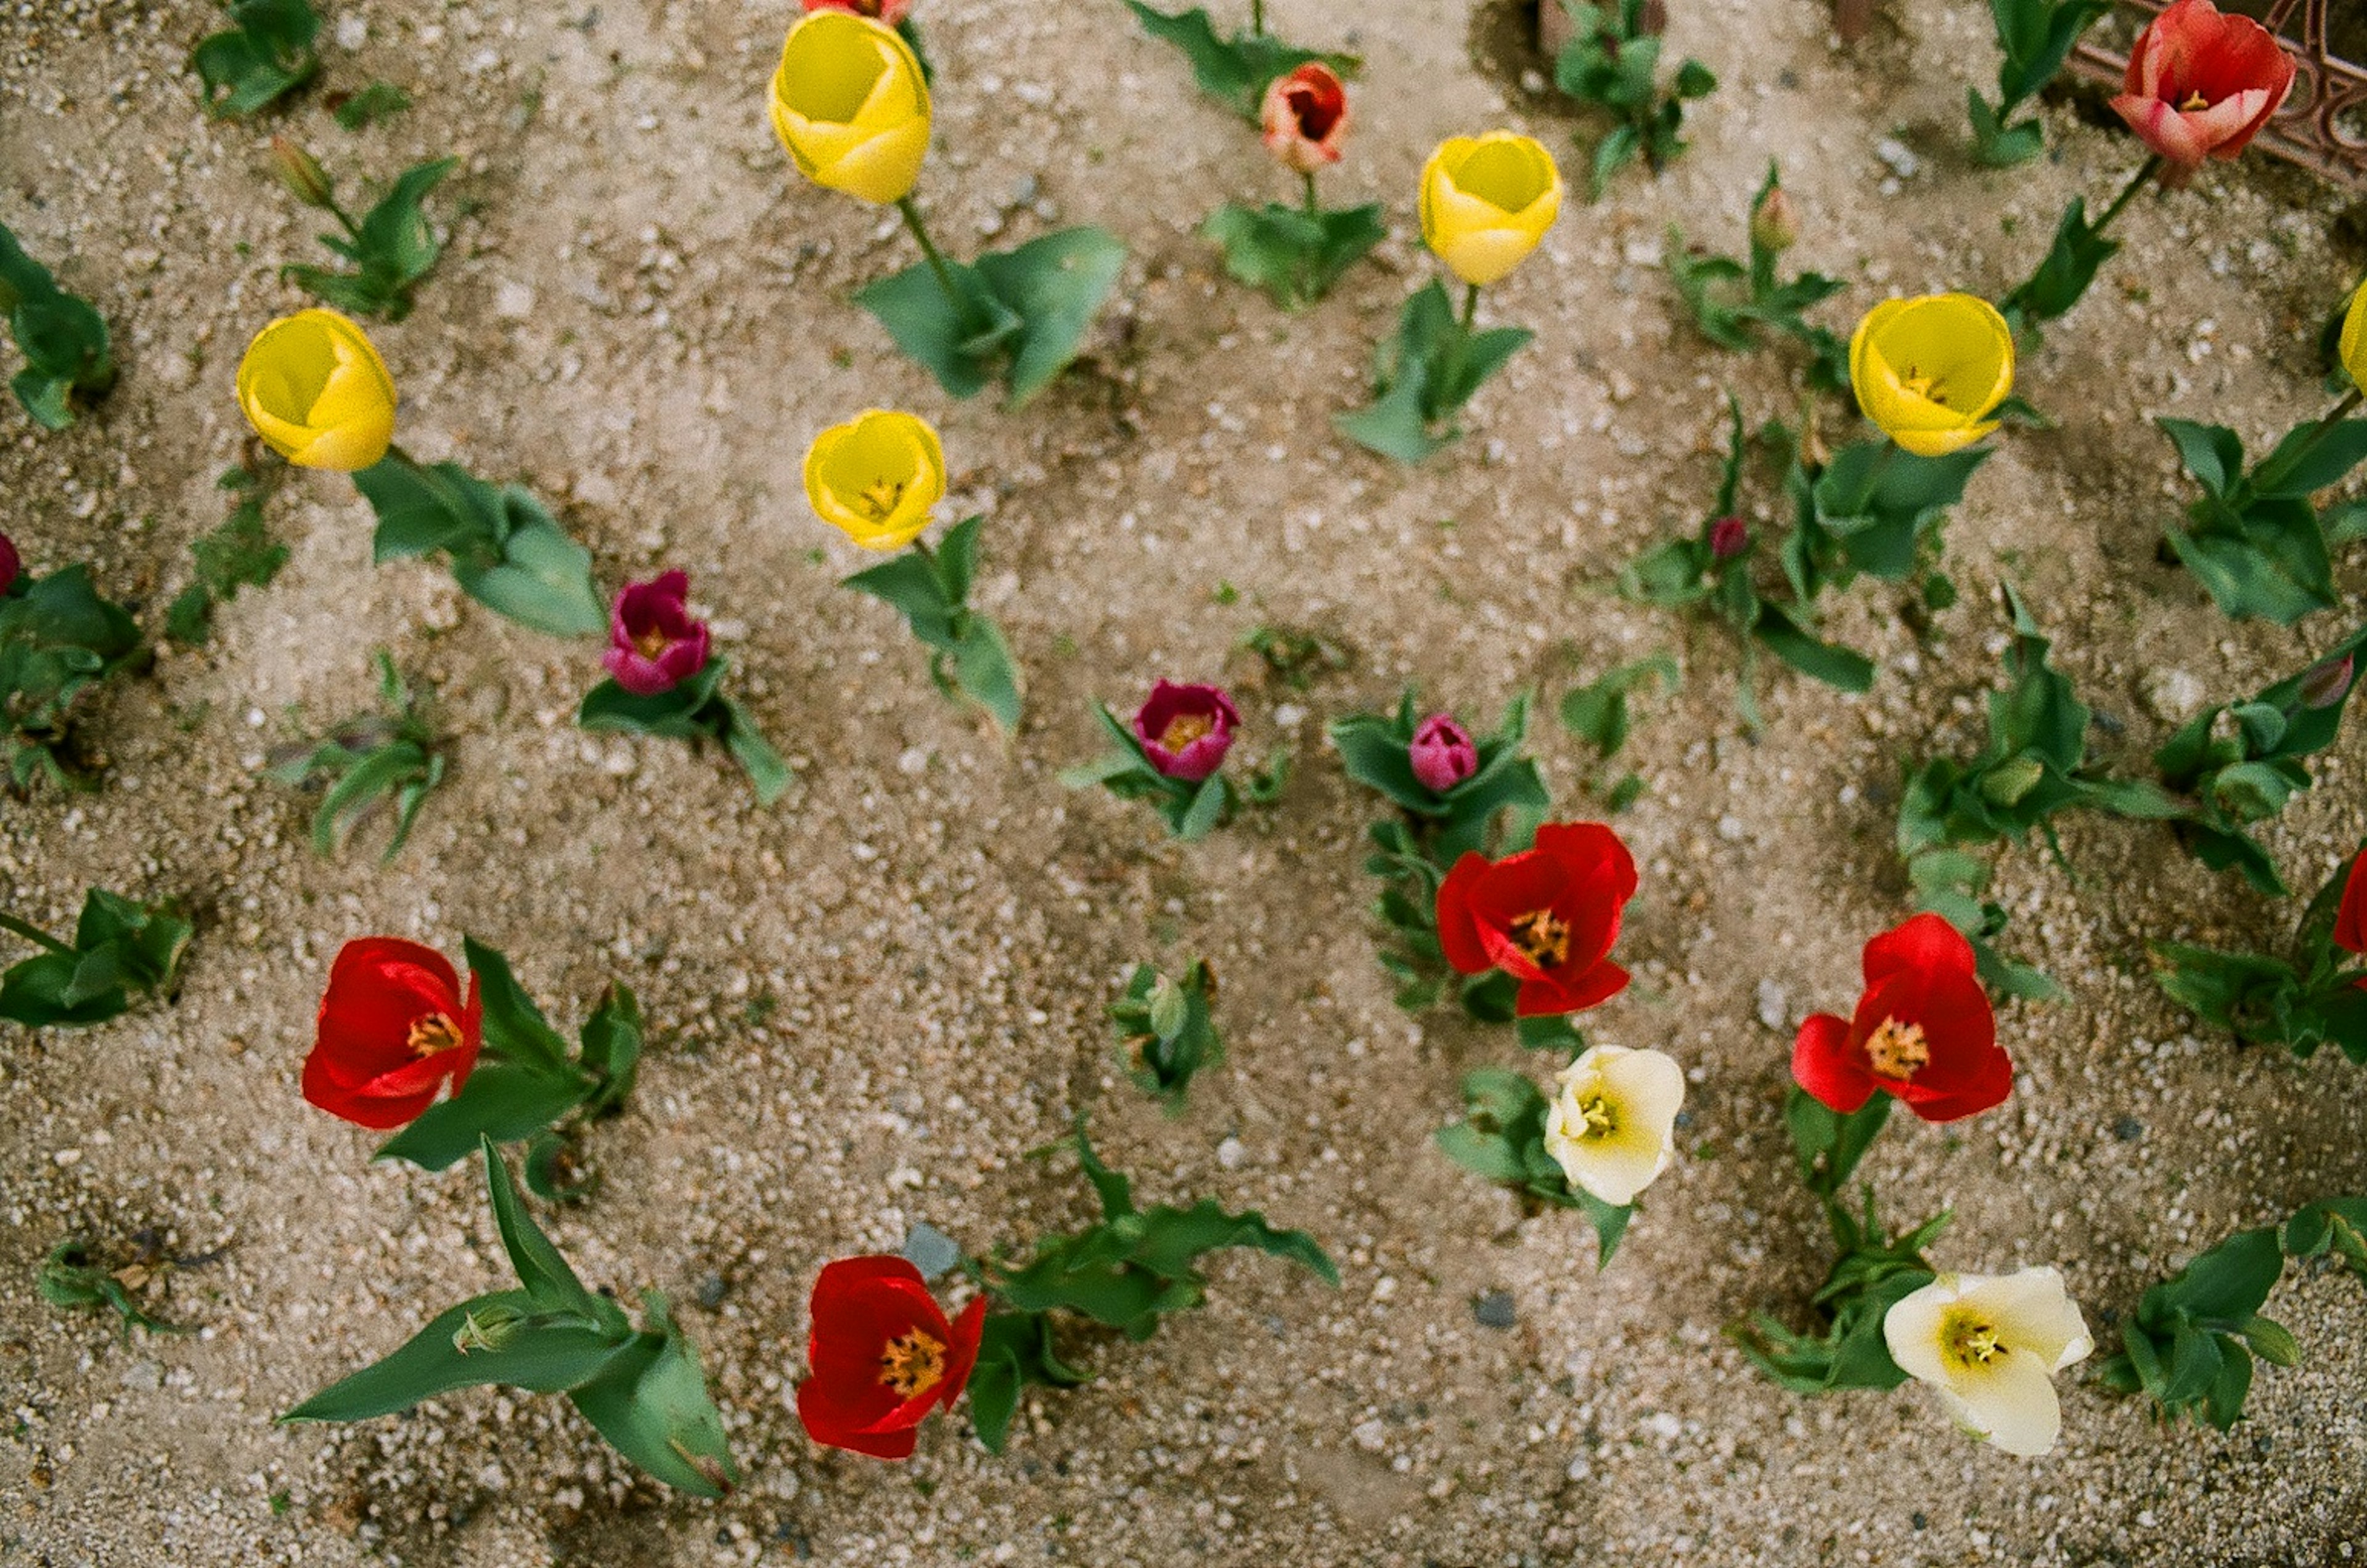
M 92 714 L 107 788 L 0 806 L 14 911 L 62 920 L 90 882 L 201 911 L 175 1005 L 0 1036 L 0 1559 L 2199 1568 L 2367 1549 L 2367 1294 L 2341 1275 L 2279 1289 L 2270 1313 L 2308 1360 L 2263 1372 L 2230 1436 L 2163 1431 L 2066 1379 L 2043 1462 L 1962 1440 L 1915 1388 L 1794 1400 L 1721 1339 L 1749 1310 L 1797 1313 L 1825 1268 L 1778 1119 L 1789 1029 L 1856 996 L 1860 941 L 1905 908 L 1898 764 L 1974 745 L 1995 584 L 2031 591 L 2100 743 L 2128 757 L 2355 622 L 2353 591 L 2298 636 L 2232 627 L 2159 568 L 2178 485 L 2147 423 L 2258 440 L 2322 407 L 2308 338 L 2367 265 L 2336 194 L 2246 158 L 2137 203 L 2128 251 L 2024 367 L 2062 428 L 2005 433 L 1950 523 L 1965 603 L 1920 641 L 1860 587 L 1834 631 L 1882 653 L 1879 686 L 1851 700 L 1780 676 L 1754 743 L 1733 648 L 1605 594 L 1700 516 L 1718 388 L 1754 419 L 1792 407 L 1785 355 L 1721 355 L 1671 319 L 1664 232 L 1737 251 L 1778 156 L 1797 260 L 1853 284 L 1837 326 L 1889 291 L 2017 279 L 2062 203 L 2109 194 L 2140 149 L 2059 106 L 2045 161 L 1967 168 L 1965 83 L 1993 71 L 1976 0 L 1894 5 L 1856 52 L 1818 0 L 1671 5 L 1671 50 L 1723 80 L 1692 151 L 1572 203 L 1491 291 L 1489 315 L 1539 341 L 1479 397 L 1472 438 L 1413 473 L 1326 416 L 1427 274 L 1406 232 L 1420 158 L 1513 123 L 1579 168 L 1505 9 L 1269 7 L 1285 35 L 1366 54 L 1326 189 L 1399 225 L 1380 265 L 1283 317 L 1191 229 L 1224 199 L 1288 196 L 1285 177 L 1115 0 L 923 0 L 940 234 L 1089 220 L 1131 248 L 1082 374 L 1006 416 L 949 407 L 847 303 L 907 241 L 800 184 L 765 125 L 791 0 L 322 5 L 322 85 L 258 125 L 194 104 L 204 0 L 0 9 L 0 215 L 107 310 L 125 362 L 73 433 L 0 416 L 0 525 L 36 570 L 90 558 L 159 615 L 241 452 L 237 352 L 298 303 L 277 267 L 315 253 L 267 132 L 346 177 L 454 151 L 447 260 L 379 333 L 405 442 L 528 480 L 611 582 L 689 568 L 805 788 L 762 814 L 712 757 L 575 733 L 589 653 L 431 568 L 369 570 L 350 487 L 296 478 L 272 504 L 296 546 L 279 582 Z M 336 130 L 322 92 L 372 78 L 419 106 Z M 937 419 L 959 499 L 989 516 L 982 598 L 1032 683 L 1008 750 L 937 700 L 885 608 L 833 587 L 857 561 L 805 513 L 798 454 L 871 404 Z M 1318 629 L 1354 662 L 1304 693 L 1262 681 L 1236 650 L 1257 624 Z M 452 783 L 383 870 L 312 858 L 303 802 L 253 776 L 367 705 L 372 646 L 436 686 L 454 736 Z M 1628 754 L 1650 780 L 1619 818 L 1645 866 L 1621 944 L 1638 984 L 1588 1029 L 1688 1062 L 1688 1159 L 1598 1277 L 1581 1220 L 1522 1218 L 1430 1149 L 1458 1074 L 1517 1048 L 1392 1010 L 1359 870 L 1373 802 L 1328 766 L 1321 726 L 1408 681 L 1486 721 L 1524 686 L 1555 698 L 1655 648 L 1690 674 L 1645 705 Z M 1056 785 L 1096 747 L 1089 700 L 1131 705 L 1157 674 L 1221 674 L 1250 750 L 1299 752 L 1276 811 L 1174 847 L 1148 814 Z M 1550 728 L 1539 747 L 1586 814 L 1586 759 Z M 2272 828 L 2296 882 L 2367 828 L 2360 769 L 2353 726 Z M 2192 1034 L 2147 977 L 2147 939 L 2265 941 L 2289 908 L 2145 825 L 2076 823 L 2064 849 L 2069 870 L 2002 861 L 2012 944 L 2071 986 L 2007 1010 L 2014 1100 L 1953 1138 L 1894 1128 L 1868 1173 L 1898 1216 L 1955 1209 L 1946 1263 L 2059 1263 L 2102 1322 L 2227 1230 L 2367 1187 L 2367 1100 L 2339 1057 Z M 270 1426 L 502 1268 L 476 1173 L 369 1166 L 365 1133 L 296 1097 L 329 955 L 369 932 L 447 951 L 473 932 L 568 1024 L 606 979 L 639 989 L 660 1034 L 632 1112 L 596 1135 L 608 1185 L 554 1227 L 587 1279 L 682 1303 L 750 1471 L 734 1499 L 639 1483 L 556 1400 Z M 1129 963 L 1188 955 L 1224 977 L 1231 1062 L 1169 1121 L 1115 1074 L 1101 1010 Z M 1082 1183 L 1023 1152 L 1079 1109 L 1148 1194 L 1304 1225 L 1344 1287 L 1221 1261 L 1207 1310 L 1153 1343 L 1079 1343 L 1101 1381 L 1030 1402 L 1001 1459 L 959 1421 L 909 1466 L 807 1445 L 788 1391 L 814 1270 L 921 1218 L 980 1249 L 1077 1218 Z M 144 1230 L 220 1249 L 149 1301 L 194 1334 L 121 1343 L 33 1294 L 59 1237 L 125 1249 Z

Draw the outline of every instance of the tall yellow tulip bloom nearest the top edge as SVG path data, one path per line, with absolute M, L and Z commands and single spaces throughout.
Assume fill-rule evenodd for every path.
M 814 184 L 902 201 L 928 154 L 928 80 L 892 26 L 807 12 L 772 73 L 772 128 Z

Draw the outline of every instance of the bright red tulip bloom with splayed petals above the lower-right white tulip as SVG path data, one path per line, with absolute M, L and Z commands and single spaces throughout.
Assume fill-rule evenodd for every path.
M 1801 1024 L 1792 1076 L 1844 1116 L 1877 1088 L 1924 1121 L 2002 1104 L 2014 1064 L 1998 1045 L 1972 944 L 1939 915 L 1915 915 L 1868 941 L 1858 1017 L 1818 1012 Z

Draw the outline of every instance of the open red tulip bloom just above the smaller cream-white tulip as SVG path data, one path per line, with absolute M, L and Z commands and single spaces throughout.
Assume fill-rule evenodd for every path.
M 1439 946 L 1463 974 L 1520 979 L 1520 1017 L 1576 1012 L 1619 996 L 1610 963 L 1636 858 L 1602 823 L 1546 823 L 1536 847 L 1501 861 L 1472 851 L 1439 885 Z

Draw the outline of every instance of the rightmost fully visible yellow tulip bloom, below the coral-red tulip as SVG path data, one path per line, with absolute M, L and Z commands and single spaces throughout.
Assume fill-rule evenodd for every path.
M 1917 456 L 1946 456 L 1998 428 L 2014 390 L 2014 329 L 1969 293 L 1884 300 L 1849 338 L 1849 383 L 1882 433 Z

